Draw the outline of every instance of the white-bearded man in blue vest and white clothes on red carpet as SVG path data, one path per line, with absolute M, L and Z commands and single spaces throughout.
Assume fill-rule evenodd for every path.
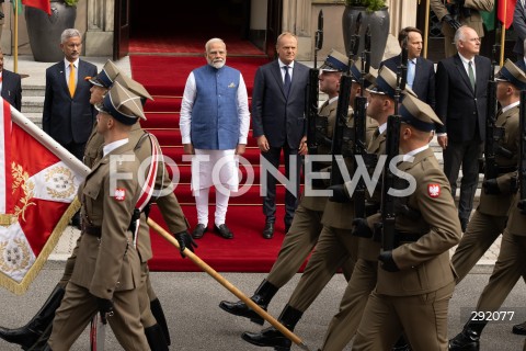
M 197 225 L 192 236 L 199 239 L 208 229 L 208 193 L 214 185 L 214 230 L 231 239 L 233 234 L 225 219 L 230 192 L 239 186 L 237 157 L 247 146 L 249 99 L 241 72 L 225 65 L 225 42 L 211 38 L 205 49 L 208 64 L 190 73 L 180 118 L 184 154 L 192 155 L 192 191 L 197 206 Z

